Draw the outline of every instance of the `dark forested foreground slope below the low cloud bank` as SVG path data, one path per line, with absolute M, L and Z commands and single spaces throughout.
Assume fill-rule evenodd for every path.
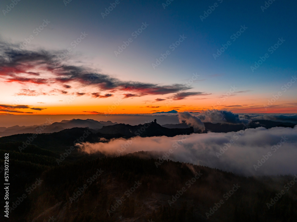
M 287 184 L 294 175 L 247 178 L 150 152 L 86 155 L 74 140 L 122 137 L 94 131 L 77 140 L 87 130 L 38 134 L 25 147 L 32 134 L 0 138 L 1 164 L 9 153 L 11 211 L 0 221 L 296 221 L 297 185 Z

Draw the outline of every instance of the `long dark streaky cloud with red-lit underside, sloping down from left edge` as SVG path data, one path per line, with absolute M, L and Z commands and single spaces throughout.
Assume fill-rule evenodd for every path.
M 90 67 L 71 65 L 69 61 L 61 61 L 59 60 L 61 54 L 62 51 L 54 50 L 20 50 L 17 44 L 1 41 L 0 78 L 6 82 L 57 84 L 64 88 L 70 88 L 70 83 L 76 83 L 82 86 L 108 90 L 109 92 L 127 92 L 124 98 L 129 98 L 131 95 L 181 93 L 180 95 L 176 94 L 174 98 L 183 99 L 190 95 L 200 94 L 200 92 L 182 92 L 192 88 L 184 84 L 159 85 L 122 81 L 107 74 L 98 73 Z M 39 70 L 40 72 L 32 70 Z M 42 76 L 42 73 L 47 75 Z M 23 74 L 27 74 L 27 76 L 23 76 Z

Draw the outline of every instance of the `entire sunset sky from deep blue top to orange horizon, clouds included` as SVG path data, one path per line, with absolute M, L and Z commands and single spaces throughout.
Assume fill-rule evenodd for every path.
M 297 3 L 268 2 L 3 0 L 0 114 L 296 113 Z

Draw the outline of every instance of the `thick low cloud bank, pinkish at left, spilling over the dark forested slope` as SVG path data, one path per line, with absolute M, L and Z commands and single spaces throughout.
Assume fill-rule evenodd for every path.
M 129 140 L 114 139 L 108 143 L 83 143 L 81 151 L 102 152 L 119 156 L 118 150 L 128 144 L 124 153 L 152 151 L 162 157 L 170 149 L 173 153 L 166 159 L 222 169 L 243 175 L 296 174 L 297 127 L 274 127 L 246 129 L 239 132 L 178 135 L 175 137 L 135 137 Z M 287 138 L 285 143 L 282 138 Z M 233 141 L 232 144 L 230 141 Z M 229 144 L 230 143 L 230 144 Z M 130 144 L 130 145 L 129 145 Z M 277 144 L 280 147 L 277 146 Z M 217 157 L 224 146 L 229 146 Z M 273 147 L 274 146 L 274 147 Z M 275 148 L 278 147 L 278 148 Z M 257 171 L 254 165 L 263 155 L 272 153 Z M 160 166 L 162 167 L 162 166 Z

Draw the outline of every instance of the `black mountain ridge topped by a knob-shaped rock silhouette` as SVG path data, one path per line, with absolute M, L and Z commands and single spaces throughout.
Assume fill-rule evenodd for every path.
M 78 142 L 98 143 L 102 142 L 101 138 L 105 138 L 105 142 L 115 138 L 131 138 L 135 136 L 151 137 L 151 136 L 168 136 L 189 135 L 194 132 L 193 127 L 186 129 L 168 129 L 150 122 L 131 126 L 129 124 L 115 124 L 104 126 L 101 129 L 90 129 L 88 127 L 74 127 L 71 129 L 61 130 L 53 133 L 41 133 L 32 141 L 32 145 L 39 147 L 48 147 L 48 149 L 56 151 L 64 146 L 72 146 Z M 86 137 L 82 135 L 87 134 Z M 19 142 L 19 146 L 23 146 L 24 141 L 31 137 L 31 133 L 22 133 L 10 135 L 0 138 L 0 143 Z M 83 140 L 78 140 L 83 138 Z

